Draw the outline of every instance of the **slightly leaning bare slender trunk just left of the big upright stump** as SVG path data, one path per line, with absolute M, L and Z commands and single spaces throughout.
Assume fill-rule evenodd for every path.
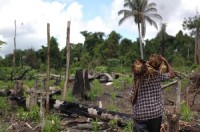
M 70 60 L 70 21 L 67 22 L 67 38 L 66 38 L 66 80 L 63 91 L 63 100 L 65 100 L 67 85 L 69 79 L 69 60 Z

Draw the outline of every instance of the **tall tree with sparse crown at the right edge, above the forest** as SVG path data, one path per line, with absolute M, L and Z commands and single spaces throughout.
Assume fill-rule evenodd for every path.
M 183 28 L 190 30 L 191 35 L 195 36 L 194 62 L 200 64 L 200 14 L 197 12 L 194 17 L 185 18 Z

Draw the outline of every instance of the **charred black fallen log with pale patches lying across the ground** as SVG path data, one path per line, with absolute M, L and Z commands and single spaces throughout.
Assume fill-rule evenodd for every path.
M 97 106 L 89 106 L 86 104 L 79 104 L 75 102 L 59 101 L 50 99 L 52 108 L 60 110 L 61 113 L 65 114 L 77 114 L 80 116 L 86 116 L 90 118 L 98 118 L 102 121 L 116 120 L 118 125 L 124 126 L 126 121 L 132 121 L 131 114 L 125 114 L 120 112 L 108 111 L 101 109 Z

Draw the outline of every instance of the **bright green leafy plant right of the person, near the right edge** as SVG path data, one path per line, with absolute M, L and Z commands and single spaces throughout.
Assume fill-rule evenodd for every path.
M 190 121 L 191 120 L 191 111 L 190 108 L 188 108 L 184 102 L 181 102 L 181 118 L 184 121 Z

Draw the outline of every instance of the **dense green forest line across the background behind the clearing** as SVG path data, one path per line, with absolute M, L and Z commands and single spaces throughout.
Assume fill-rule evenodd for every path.
M 81 34 L 85 37 L 84 43 L 70 44 L 70 67 L 72 69 L 86 68 L 95 69 L 104 67 L 108 71 L 120 69 L 130 69 L 132 61 L 140 58 L 139 40 L 133 42 L 127 38 L 122 38 L 120 34 L 112 31 L 108 36 L 103 32 L 87 32 Z M 194 38 L 179 31 L 176 36 L 165 34 L 162 45 L 159 34 L 146 40 L 144 44 L 144 57 L 153 53 L 162 54 L 174 66 L 191 66 L 194 63 Z M 27 43 L 28 44 L 28 43 Z M 16 66 L 30 66 L 33 69 L 39 69 L 46 72 L 47 62 L 47 44 L 41 46 L 41 49 L 35 51 L 33 48 L 26 50 L 16 50 Z M 50 39 L 50 62 L 53 71 L 60 72 L 66 65 L 66 48 L 59 49 L 55 37 Z M 164 51 L 161 48 L 164 46 Z M 12 67 L 13 54 L 7 54 L 5 58 L 1 57 L 1 67 Z M 122 68 L 123 67 L 123 68 Z M 120 70 L 120 71 L 121 71 Z M 71 71 L 72 73 L 74 70 Z M 123 71 L 121 71 L 123 72 Z

